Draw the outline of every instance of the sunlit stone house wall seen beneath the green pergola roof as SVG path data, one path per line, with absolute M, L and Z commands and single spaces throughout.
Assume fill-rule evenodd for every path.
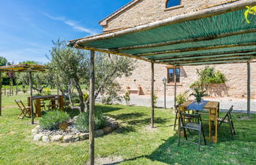
M 226 84 L 213 84 L 209 89 L 209 94 L 213 97 L 247 97 L 247 64 L 219 64 L 210 65 L 222 72 L 228 82 Z M 177 83 L 177 94 L 190 90 L 190 84 L 198 79 L 197 68 L 205 66 L 193 66 L 181 68 L 180 83 Z M 251 72 L 251 96 L 256 94 L 256 63 L 250 64 Z M 164 84 L 162 79 L 167 77 L 168 70 L 164 64 L 155 64 L 155 92 L 157 95 L 164 95 Z M 130 89 L 137 89 L 141 86 L 143 94 L 150 94 L 151 86 L 151 64 L 145 61 L 137 61 L 137 68 L 129 77 L 119 79 L 122 86 L 122 93 L 126 92 L 126 86 Z M 167 85 L 167 94 L 174 95 L 174 84 Z

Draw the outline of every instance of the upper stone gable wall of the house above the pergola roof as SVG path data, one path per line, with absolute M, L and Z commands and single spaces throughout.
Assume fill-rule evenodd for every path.
M 172 9 L 166 9 L 166 2 L 167 0 L 141 0 L 107 20 L 107 24 L 103 26 L 104 31 L 148 24 L 156 20 L 164 20 L 171 16 L 230 2 L 230 0 L 182 0 L 181 6 Z

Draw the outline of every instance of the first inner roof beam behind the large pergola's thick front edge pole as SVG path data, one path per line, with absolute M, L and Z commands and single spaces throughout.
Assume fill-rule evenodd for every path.
M 180 39 L 175 41 L 159 42 L 159 43 L 145 44 L 145 45 L 139 45 L 139 46 L 126 46 L 126 47 L 121 47 L 113 50 L 120 52 L 123 50 L 130 50 L 130 49 L 145 49 L 145 48 L 160 47 L 160 46 L 171 46 L 179 43 L 208 41 L 208 40 L 217 39 L 217 38 L 225 38 L 225 37 L 230 37 L 234 35 L 243 35 L 243 34 L 254 33 L 254 32 L 256 32 L 256 28 L 245 29 L 242 31 L 232 31 L 230 33 L 222 33 L 222 34 L 205 36 L 200 38 Z

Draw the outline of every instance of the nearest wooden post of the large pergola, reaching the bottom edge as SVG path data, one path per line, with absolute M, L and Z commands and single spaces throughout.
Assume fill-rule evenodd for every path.
M 89 94 L 89 141 L 90 141 L 90 165 L 94 164 L 94 56 L 95 51 L 91 50 L 90 66 L 90 94 Z

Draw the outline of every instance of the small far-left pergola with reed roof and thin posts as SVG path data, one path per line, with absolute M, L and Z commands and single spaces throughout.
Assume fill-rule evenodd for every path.
M 30 111 L 33 114 L 32 102 L 32 72 L 44 72 L 47 68 L 39 64 L 14 64 L 0 67 L 0 79 L 2 72 L 28 72 L 29 73 L 29 86 L 30 86 Z M 2 116 L 2 81 L 0 81 L 0 116 Z M 31 116 L 31 123 L 34 124 L 34 116 Z

